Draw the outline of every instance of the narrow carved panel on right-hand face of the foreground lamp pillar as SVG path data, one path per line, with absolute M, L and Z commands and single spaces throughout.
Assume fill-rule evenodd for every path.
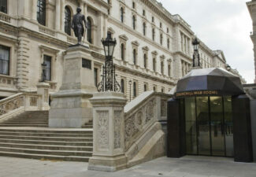
M 122 111 L 114 111 L 114 149 L 121 148 L 121 117 L 122 116 Z

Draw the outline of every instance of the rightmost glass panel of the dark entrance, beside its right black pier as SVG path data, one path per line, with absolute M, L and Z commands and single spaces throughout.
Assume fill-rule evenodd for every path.
M 232 120 L 232 99 L 224 97 L 224 129 L 225 129 L 225 145 L 226 156 L 234 156 L 233 146 L 233 120 Z

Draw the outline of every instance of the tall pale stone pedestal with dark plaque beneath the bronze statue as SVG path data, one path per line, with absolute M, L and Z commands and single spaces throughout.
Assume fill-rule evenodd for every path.
M 82 127 L 92 120 L 89 98 L 97 91 L 94 62 L 90 50 L 80 45 L 70 46 L 64 60 L 61 88 L 52 94 L 49 127 Z

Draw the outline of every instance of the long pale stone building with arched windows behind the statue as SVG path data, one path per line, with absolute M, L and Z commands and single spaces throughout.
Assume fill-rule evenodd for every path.
M 65 50 L 76 43 L 72 15 L 80 6 L 87 18 L 85 41 L 94 77 L 101 79 L 101 39 L 117 39 L 113 57 L 127 98 L 145 90 L 168 93 L 191 68 L 195 34 L 179 15 L 155 0 L 2 0 L 0 2 L 0 97 L 35 92 L 46 64 L 50 93 L 62 82 Z M 202 41 L 203 68 L 226 68 L 224 53 Z M 93 80 L 94 79 L 94 80 Z

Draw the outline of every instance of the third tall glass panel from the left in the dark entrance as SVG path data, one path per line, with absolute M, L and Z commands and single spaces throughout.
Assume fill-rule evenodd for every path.
M 224 156 L 224 122 L 222 97 L 210 97 L 212 155 Z

